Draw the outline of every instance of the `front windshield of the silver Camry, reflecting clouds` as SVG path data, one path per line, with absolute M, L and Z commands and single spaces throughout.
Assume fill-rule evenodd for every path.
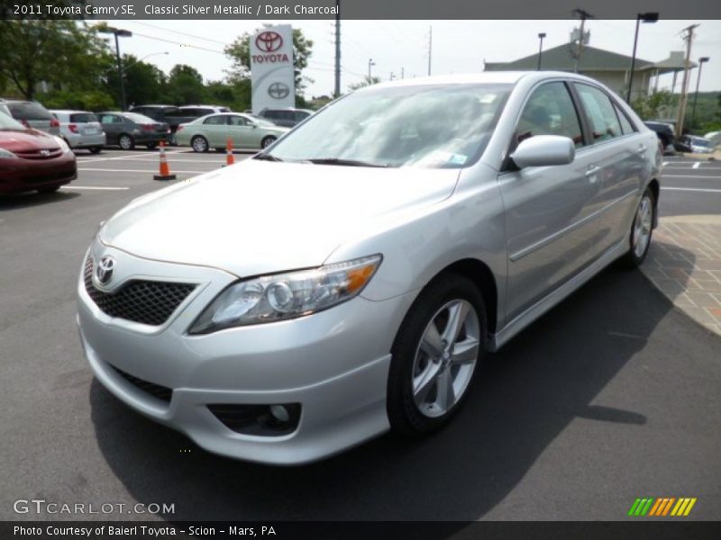
M 456 168 L 488 144 L 510 85 L 408 85 L 350 94 L 259 158 L 331 165 Z

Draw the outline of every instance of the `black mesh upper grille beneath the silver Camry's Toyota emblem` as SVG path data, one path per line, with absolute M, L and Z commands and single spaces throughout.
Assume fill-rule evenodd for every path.
M 93 284 L 93 258 L 85 264 L 85 289 L 98 308 L 110 317 L 160 326 L 178 309 L 195 284 L 132 280 L 114 293 L 104 293 Z

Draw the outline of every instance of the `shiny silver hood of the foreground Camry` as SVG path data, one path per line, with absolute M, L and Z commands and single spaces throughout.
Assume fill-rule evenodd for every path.
M 138 257 L 239 276 L 320 266 L 378 220 L 448 198 L 458 175 L 247 159 L 136 199 L 99 237 Z

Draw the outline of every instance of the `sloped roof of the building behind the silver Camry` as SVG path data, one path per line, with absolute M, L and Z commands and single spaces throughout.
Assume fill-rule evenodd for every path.
M 558 47 L 546 49 L 541 58 L 543 70 L 572 71 L 576 65 L 576 46 L 571 43 L 563 43 Z M 518 58 L 513 62 L 486 62 L 487 71 L 506 71 L 507 69 L 535 69 L 538 66 L 538 53 L 525 58 Z M 580 71 L 627 71 L 631 66 L 631 57 L 611 52 L 604 49 L 596 49 L 584 45 L 580 55 Z M 643 69 L 652 67 L 653 62 L 636 58 L 635 68 Z

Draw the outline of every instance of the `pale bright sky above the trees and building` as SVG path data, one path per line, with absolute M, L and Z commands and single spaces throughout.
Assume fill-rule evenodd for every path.
M 132 38 L 121 40 L 121 52 L 155 64 L 166 73 L 176 64 L 195 67 L 206 80 L 218 80 L 231 66 L 223 54 L 244 31 L 255 31 L 264 21 L 112 21 L 111 25 L 130 30 Z M 268 21 L 292 24 L 313 40 L 313 55 L 304 75 L 315 80 L 306 95 L 332 94 L 334 66 L 333 21 Z M 709 57 L 704 65 L 700 90 L 721 90 L 721 21 L 663 21 L 641 24 L 637 58 L 659 61 L 671 50 L 684 50 L 681 31 L 699 23 L 691 49 L 691 59 Z M 578 21 L 342 21 L 342 91 L 368 75 L 425 76 L 428 73 L 428 38 L 433 28 L 431 73 L 474 73 L 488 62 L 506 62 L 534 54 L 538 33 L 545 32 L 543 48 L 569 42 L 570 31 Z M 631 56 L 635 21 L 589 20 L 589 45 Z M 111 36 L 112 37 L 112 36 Z M 167 52 L 168 54 L 163 54 Z M 696 86 L 697 71 L 689 89 Z M 660 89 L 671 89 L 671 75 L 660 78 Z M 676 90 L 680 89 L 680 77 Z

